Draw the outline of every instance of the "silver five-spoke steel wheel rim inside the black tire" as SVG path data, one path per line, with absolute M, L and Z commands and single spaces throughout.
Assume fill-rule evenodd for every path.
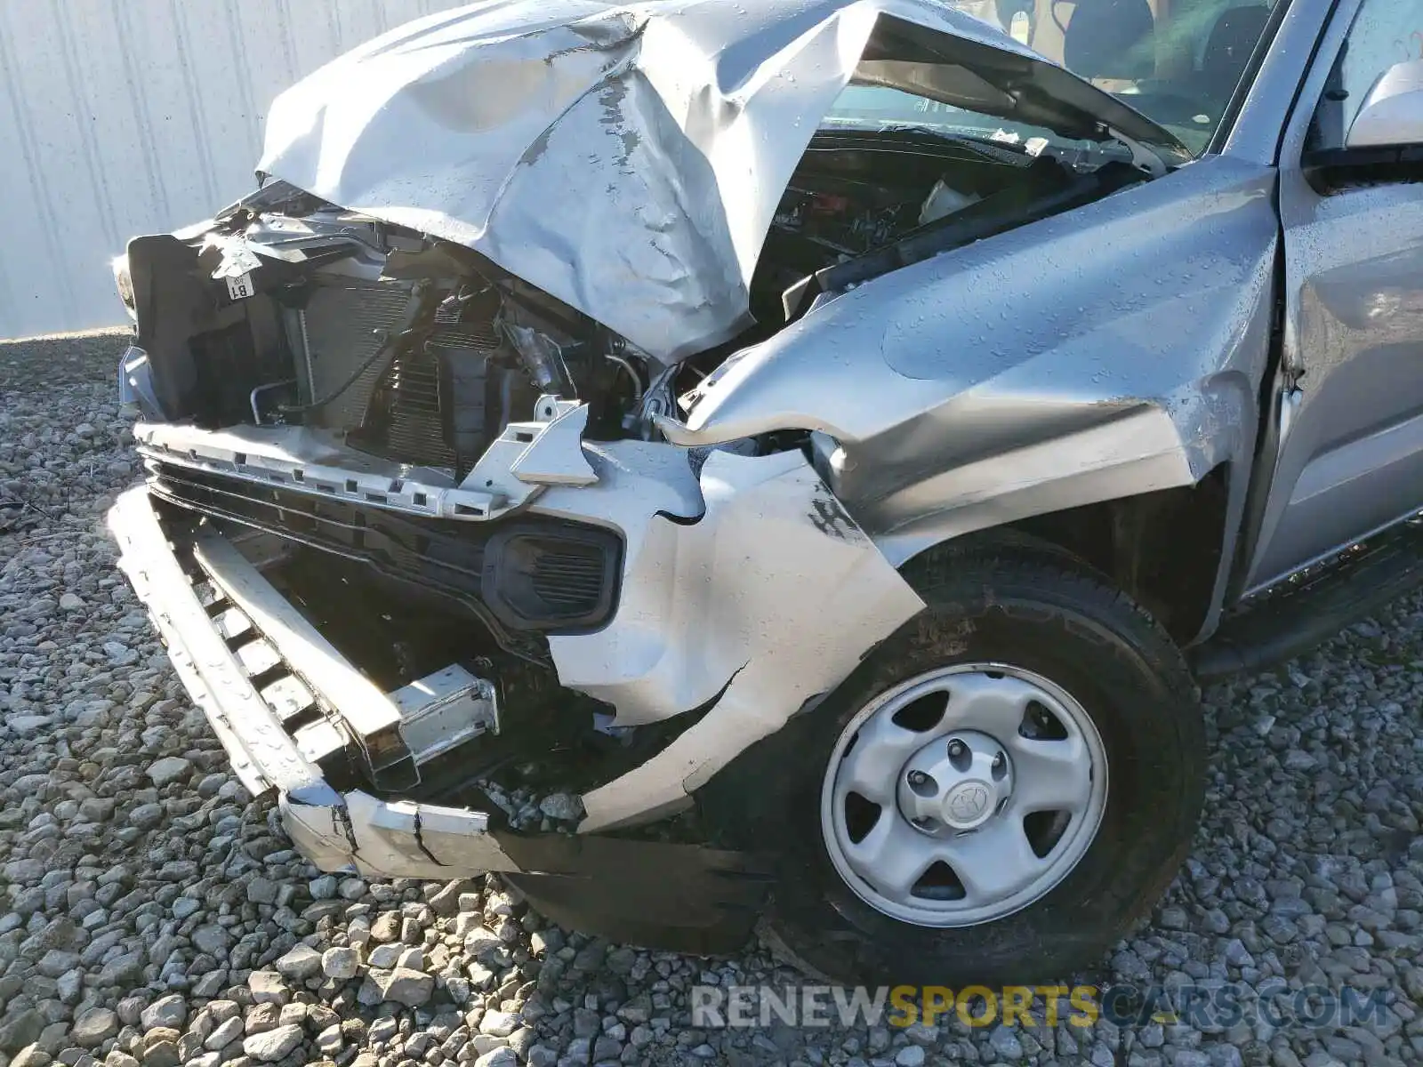
M 999 663 L 911 679 L 841 733 L 821 831 L 845 883 L 921 926 L 973 926 L 1044 896 L 1096 838 L 1107 760 L 1090 716 Z

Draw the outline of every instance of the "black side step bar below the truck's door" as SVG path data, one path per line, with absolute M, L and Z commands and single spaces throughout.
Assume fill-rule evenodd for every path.
M 1269 589 L 1190 650 L 1201 684 L 1266 670 L 1423 586 L 1423 519 L 1414 518 Z

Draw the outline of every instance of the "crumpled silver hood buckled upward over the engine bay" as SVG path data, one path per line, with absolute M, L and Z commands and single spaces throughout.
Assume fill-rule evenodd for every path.
M 785 184 L 885 17 L 1097 92 L 933 0 L 488 0 L 283 92 L 258 171 L 475 249 L 673 361 L 748 324 Z M 936 70 L 990 110 L 993 87 Z

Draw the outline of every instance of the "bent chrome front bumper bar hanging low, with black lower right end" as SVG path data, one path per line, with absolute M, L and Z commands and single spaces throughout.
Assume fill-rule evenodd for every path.
M 233 773 L 255 795 L 276 792 L 287 834 L 320 869 L 437 881 L 508 874 L 536 908 L 559 922 L 672 950 L 731 950 L 748 936 L 770 886 L 770 868 L 751 856 L 596 835 L 521 835 L 497 825 L 498 817 L 488 812 L 333 788 L 313 758 L 320 745 L 289 730 L 216 629 L 147 488 L 120 497 L 108 526 L 121 569 Z M 333 677 L 356 686 L 359 671 L 229 542 L 202 534 L 191 553 L 205 580 L 276 612 L 265 620 L 262 636 L 283 660 L 295 660 L 303 681 L 320 676 L 313 691 Z M 347 700 L 351 691 L 346 690 Z M 370 716 L 369 707 L 330 710 L 343 717 Z

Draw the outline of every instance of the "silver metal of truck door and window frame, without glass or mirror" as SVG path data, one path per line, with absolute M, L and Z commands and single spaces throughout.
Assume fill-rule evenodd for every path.
M 1322 191 L 1302 168 L 1358 9 L 1339 4 L 1281 139 L 1285 397 L 1247 592 L 1423 506 L 1423 185 Z

